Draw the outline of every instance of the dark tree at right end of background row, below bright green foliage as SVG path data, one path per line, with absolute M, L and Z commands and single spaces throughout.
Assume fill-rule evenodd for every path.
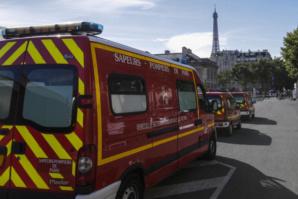
M 276 86 L 277 90 L 282 87 L 285 87 L 286 90 L 291 90 L 296 81 L 289 76 L 284 60 L 281 57 L 274 57 L 270 63 L 273 68 L 272 75 L 274 77 L 274 86 Z

